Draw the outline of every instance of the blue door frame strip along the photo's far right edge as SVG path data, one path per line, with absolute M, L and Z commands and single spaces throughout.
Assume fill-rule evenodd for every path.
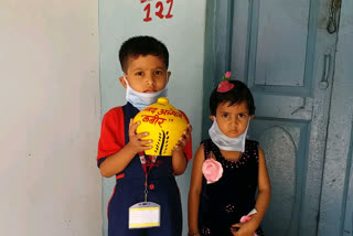
M 352 21 L 353 2 L 342 0 L 320 201 L 320 236 L 353 235 Z

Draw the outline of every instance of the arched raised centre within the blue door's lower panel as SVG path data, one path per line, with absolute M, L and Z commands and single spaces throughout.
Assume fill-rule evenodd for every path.
M 272 206 L 268 210 L 268 215 L 276 215 L 281 212 L 281 222 L 276 222 L 267 217 L 264 219 L 264 225 L 272 225 L 266 228 L 267 235 L 276 235 L 277 232 L 285 232 L 289 235 L 288 230 L 293 228 L 291 221 L 296 214 L 296 157 L 297 147 L 293 142 L 292 136 L 282 128 L 282 126 L 271 125 L 270 128 L 263 131 L 259 137 L 259 142 L 263 149 L 271 157 L 271 162 L 267 163 L 269 170 L 269 178 L 272 184 L 272 192 L 280 193 L 274 194 L 271 201 Z M 277 146 L 279 144 L 279 146 Z M 282 183 L 286 183 L 284 185 Z

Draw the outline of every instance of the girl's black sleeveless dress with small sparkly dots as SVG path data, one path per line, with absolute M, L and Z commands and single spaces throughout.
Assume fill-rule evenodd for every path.
M 255 208 L 258 178 L 258 142 L 246 140 L 237 161 L 226 160 L 211 139 L 204 140 L 205 159 L 211 154 L 222 164 L 223 175 L 207 184 L 203 176 L 200 194 L 199 228 L 202 235 L 232 236 L 231 226 Z M 256 234 L 264 236 L 261 228 Z

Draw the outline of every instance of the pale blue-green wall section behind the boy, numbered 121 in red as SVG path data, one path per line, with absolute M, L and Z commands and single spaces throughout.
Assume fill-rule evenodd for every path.
M 167 0 L 164 14 L 169 10 Z M 170 52 L 171 79 L 169 99 L 171 104 L 183 110 L 193 126 L 193 150 L 201 141 L 202 96 L 203 96 L 203 55 L 205 32 L 206 1 L 174 0 L 171 19 L 159 19 L 154 15 L 157 0 L 151 3 L 152 21 L 143 22 L 146 17 L 140 0 L 100 0 L 99 1 L 99 52 L 100 52 L 100 93 L 101 115 L 111 107 L 124 105 L 125 88 L 118 82 L 122 75 L 118 61 L 121 43 L 135 35 L 152 35 L 161 40 Z M 183 205 L 183 235 L 188 232 L 188 193 L 190 184 L 190 163 L 186 172 L 178 176 Z M 105 233 L 107 229 L 106 207 L 115 184 L 114 178 L 104 179 L 103 216 Z

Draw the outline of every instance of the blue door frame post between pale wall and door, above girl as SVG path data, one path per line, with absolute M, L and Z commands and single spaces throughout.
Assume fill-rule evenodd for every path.
M 206 2 L 203 96 L 208 98 L 225 72 L 231 71 L 233 35 L 233 0 Z M 202 139 L 211 127 L 208 99 L 203 99 Z

